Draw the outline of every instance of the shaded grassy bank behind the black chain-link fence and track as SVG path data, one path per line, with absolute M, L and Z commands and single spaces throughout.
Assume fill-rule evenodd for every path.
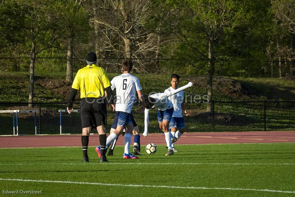
M 65 82 L 65 73 L 36 73 L 35 74 L 35 102 L 67 102 L 71 82 Z M 118 74 L 108 74 L 112 79 Z M 142 86 L 145 95 L 150 92 L 163 92 L 170 86 L 170 77 L 167 75 L 135 74 Z M 1 102 L 27 102 L 29 74 L 27 72 L 3 72 L 0 74 L 0 100 Z M 205 76 L 181 76 L 180 86 L 188 81 L 194 86 L 185 91 L 188 103 L 186 104 L 190 115 L 185 117 L 186 131 L 263 131 L 265 126 L 264 107 L 266 107 L 267 131 L 290 131 L 295 129 L 294 103 L 215 103 L 213 113 L 207 112 L 207 104 L 203 96 L 206 95 Z M 214 100 L 217 101 L 291 101 L 295 98 L 295 84 L 292 78 L 260 79 L 260 78 L 214 78 Z M 79 95 L 77 95 L 79 102 Z M 190 103 L 190 98 L 196 98 L 196 103 Z M 193 100 L 193 99 L 192 99 Z M 1 109 L 32 110 L 27 106 L 1 105 Z M 41 121 L 41 133 L 59 133 L 58 109 L 64 109 L 65 104 L 42 105 L 41 115 L 37 115 L 37 126 Z M 76 109 L 79 105 L 75 106 Z M 39 111 L 39 106 L 33 108 Z M 135 119 L 143 130 L 143 114 L 139 112 L 139 105 L 134 105 Z M 1 114 L 0 126 L 5 126 L 11 133 L 12 115 Z M 151 110 L 150 131 L 158 131 L 157 111 Z M 80 133 L 81 124 L 79 115 L 68 116 L 63 114 L 63 129 L 65 133 Z M 108 126 L 112 124 L 114 114 L 109 111 Z M 214 122 L 213 122 L 214 119 Z M 31 131 L 32 117 L 21 115 L 20 127 L 25 133 Z M 28 121 L 27 121 L 28 120 Z M 214 124 L 214 128 L 213 128 Z

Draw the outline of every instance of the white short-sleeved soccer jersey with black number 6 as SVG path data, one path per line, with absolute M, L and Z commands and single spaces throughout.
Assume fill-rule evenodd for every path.
M 111 81 L 116 88 L 116 111 L 131 113 L 136 91 L 141 90 L 139 79 L 129 73 L 116 76 Z

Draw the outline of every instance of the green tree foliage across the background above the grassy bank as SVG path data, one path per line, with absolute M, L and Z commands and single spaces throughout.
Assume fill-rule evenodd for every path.
M 129 5 L 131 1 L 124 2 Z M 135 6 L 134 2 L 137 1 L 132 1 Z M 94 5 L 100 5 L 99 14 L 105 20 L 110 20 L 108 22 L 114 25 L 123 25 L 119 10 L 109 9 L 106 6 L 109 4 L 103 4 L 103 1 L 97 1 Z M 294 21 L 293 0 L 152 0 L 149 6 L 150 10 L 145 12 L 147 17 L 142 17 L 142 21 L 138 21 L 140 25 L 132 29 L 140 32 L 137 35 L 140 40 L 135 39 L 132 44 L 134 48 L 143 47 L 143 43 L 151 40 L 154 43 L 156 36 L 161 36 L 160 53 L 156 57 L 174 59 L 160 61 L 161 71 L 167 71 L 166 66 L 171 65 L 173 72 L 207 74 L 210 40 L 214 43 L 214 64 L 218 67 L 221 61 L 223 76 L 270 76 L 270 64 L 266 61 L 278 58 L 288 60 L 292 56 L 288 30 L 292 31 L 289 24 Z M 290 12 L 287 12 L 288 7 Z M 27 58 L 34 39 L 37 52 L 41 51 L 37 57 L 66 57 L 71 41 L 74 55 L 84 57 L 87 52 L 95 50 L 93 40 L 99 43 L 99 47 L 106 48 L 96 49 L 101 50 L 99 56 L 112 58 L 124 54 L 124 44 L 122 38 L 116 36 L 117 33 L 109 27 L 95 32 L 92 11 L 93 5 L 89 2 L 78 5 L 75 1 L 66 0 L 1 1 L 0 56 Z M 107 13 L 118 15 L 114 17 Z M 130 14 L 134 13 L 130 11 Z M 112 46 L 102 44 L 105 37 L 111 40 Z M 134 55 L 155 58 L 153 54 L 158 49 L 153 45 L 149 47 L 151 49 L 145 55 Z M 42 51 L 47 48 L 51 49 Z M 155 64 L 147 62 L 145 69 L 155 71 Z M 8 60 L 0 60 L 0 64 L 2 71 L 14 70 Z M 74 66 L 78 68 L 77 64 Z M 17 60 L 17 69 L 27 71 L 28 67 L 29 61 L 26 59 Z M 65 67 L 65 60 L 61 59 L 36 62 L 36 71 L 65 71 Z

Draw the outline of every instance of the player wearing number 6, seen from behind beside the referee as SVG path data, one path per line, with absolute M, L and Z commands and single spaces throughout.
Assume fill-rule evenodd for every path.
M 133 102 L 136 99 L 135 93 L 137 92 L 139 99 L 142 101 L 141 112 L 145 109 L 145 100 L 141 93 L 141 86 L 136 76 L 130 74 L 132 69 L 132 61 L 124 61 L 122 66 L 123 74 L 116 76 L 112 79 L 112 89 L 116 88 L 116 112 L 118 115 L 118 124 L 116 130 L 111 133 L 106 139 L 106 146 L 109 146 L 117 137 L 122 134 L 126 126 L 126 133 L 124 135 L 125 148 L 124 159 L 138 159 L 138 157 L 130 154 L 129 148 L 131 143 L 131 134 L 133 131 L 133 124 L 131 121 L 130 113 L 132 110 Z M 96 147 L 96 152 L 100 157 L 100 147 Z

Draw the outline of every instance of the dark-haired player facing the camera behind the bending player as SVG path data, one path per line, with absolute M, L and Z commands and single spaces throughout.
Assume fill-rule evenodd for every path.
M 164 93 L 171 92 L 173 90 L 178 89 L 178 83 L 179 83 L 179 75 L 178 74 L 172 74 L 171 75 L 171 87 L 165 90 Z M 185 108 L 185 104 L 183 102 L 184 96 L 183 91 L 180 91 L 176 93 L 175 95 L 172 95 L 171 97 L 168 97 L 168 99 L 173 103 L 174 112 L 171 118 L 171 121 L 169 123 L 169 128 L 171 129 L 171 139 L 178 139 L 183 133 L 184 133 L 184 119 L 182 116 L 182 110 L 184 111 L 184 114 L 186 116 L 189 115 Z M 178 128 L 179 130 L 177 131 Z M 174 148 L 174 143 L 172 143 L 172 149 L 174 152 L 177 152 L 177 150 Z

